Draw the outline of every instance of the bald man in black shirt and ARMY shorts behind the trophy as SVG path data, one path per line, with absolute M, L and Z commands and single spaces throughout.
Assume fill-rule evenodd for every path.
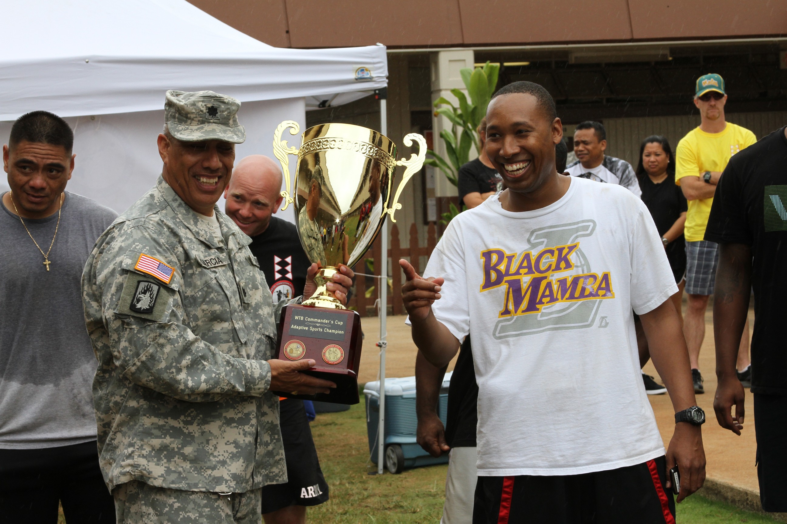
M 224 192 L 226 213 L 251 237 L 249 248 L 265 274 L 274 302 L 303 295 L 306 272 L 312 265 L 295 225 L 272 216 L 282 203 L 281 187 L 282 172 L 275 161 L 253 155 L 238 162 Z M 329 289 L 332 285 L 328 284 Z M 317 459 L 304 401 L 279 399 L 279 424 L 287 482 L 262 489 L 263 519 L 265 524 L 306 522 L 306 507 L 326 502 L 328 485 Z

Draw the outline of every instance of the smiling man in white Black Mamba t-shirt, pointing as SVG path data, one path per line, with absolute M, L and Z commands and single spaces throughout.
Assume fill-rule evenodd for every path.
M 486 154 L 508 189 L 451 221 L 427 278 L 400 262 L 430 364 L 473 340 L 473 522 L 673 523 L 667 471 L 678 464 L 678 501 L 702 486 L 704 413 L 650 213 L 623 188 L 557 173 L 562 124 L 538 84 L 497 91 L 486 118 Z M 632 310 L 676 411 L 666 456 Z

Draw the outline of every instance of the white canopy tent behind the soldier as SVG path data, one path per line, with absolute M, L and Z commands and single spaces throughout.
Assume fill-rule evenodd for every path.
M 161 171 L 156 136 L 168 89 L 238 98 L 247 134 L 240 159 L 273 156 L 282 120 L 302 130 L 307 108 L 387 83 L 384 46 L 279 49 L 185 0 L 0 0 L 0 9 L 0 141 L 25 112 L 61 115 L 75 130 L 68 189 L 119 212 Z

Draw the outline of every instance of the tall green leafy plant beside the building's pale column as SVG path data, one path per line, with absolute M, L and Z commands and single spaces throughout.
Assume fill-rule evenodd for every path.
M 451 123 L 451 129 L 440 132 L 440 138 L 445 144 L 445 158 L 431 149 L 427 152 L 430 156 L 426 164 L 437 167 L 445 174 L 453 185 L 457 183 L 459 168 L 470 160 L 471 147 L 481 152 L 478 134 L 475 132 L 478 124 L 486 115 L 486 106 L 497 86 L 497 75 L 500 72 L 499 64 L 490 64 L 489 61 L 482 68 L 463 68 L 460 70 L 462 82 L 467 87 L 467 95 L 461 90 L 453 89 L 451 93 L 456 97 L 459 106 L 456 107 L 445 97 L 434 101 L 435 115 L 443 115 Z M 442 222 L 442 221 L 441 221 Z

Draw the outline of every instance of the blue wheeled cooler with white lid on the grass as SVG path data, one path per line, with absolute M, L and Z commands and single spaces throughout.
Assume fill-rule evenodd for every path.
M 440 390 L 438 413 L 445 424 L 448 414 L 448 387 L 453 372 L 445 373 Z M 371 461 L 377 464 L 377 431 L 380 412 L 380 383 L 368 382 L 364 385 L 366 398 L 366 430 L 369 438 Z M 435 458 L 423 451 L 416 442 L 416 377 L 401 379 L 386 378 L 386 468 L 391 473 L 401 473 L 405 467 L 446 464 L 448 453 Z

